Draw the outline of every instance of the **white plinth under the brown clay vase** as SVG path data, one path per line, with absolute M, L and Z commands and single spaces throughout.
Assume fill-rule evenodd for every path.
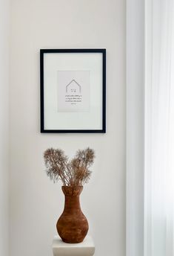
M 93 256 L 95 246 L 90 236 L 84 238 L 82 243 L 64 243 L 60 237 L 53 239 L 54 256 Z

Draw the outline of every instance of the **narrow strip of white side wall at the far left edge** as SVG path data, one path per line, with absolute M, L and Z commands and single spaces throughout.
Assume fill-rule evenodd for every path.
M 9 1 L 0 0 L 0 255 L 8 255 Z

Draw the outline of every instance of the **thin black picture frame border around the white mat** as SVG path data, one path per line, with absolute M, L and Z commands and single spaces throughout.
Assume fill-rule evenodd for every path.
M 96 54 L 102 55 L 102 124 L 100 129 L 47 129 L 44 124 L 44 54 Z M 106 49 L 40 49 L 40 113 L 41 113 L 41 133 L 105 133 L 106 132 Z

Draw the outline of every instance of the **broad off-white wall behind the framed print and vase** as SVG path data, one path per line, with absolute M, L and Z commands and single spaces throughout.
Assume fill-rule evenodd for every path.
M 49 256 L 64 205 L 42 154 L 96 150 L 81 194 L 96 256 L 125 256 L 125 1 L 11 0 L 10 256 Z M 107 134 L 39 132 L 39 49 L 107 48 Z

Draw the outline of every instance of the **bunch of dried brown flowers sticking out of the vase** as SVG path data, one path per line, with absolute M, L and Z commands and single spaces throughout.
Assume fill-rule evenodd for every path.
M 94 150 L 87 147 L 77 150 L 76 156 L 69 160 L 60 149 L 47 149 L 44 152 L 44 163 L 47 167 L 47 176 L 57 182 L 59 179 L 64 186 L 80 186 L 90 179 L 90 166 L 95 158 Z

